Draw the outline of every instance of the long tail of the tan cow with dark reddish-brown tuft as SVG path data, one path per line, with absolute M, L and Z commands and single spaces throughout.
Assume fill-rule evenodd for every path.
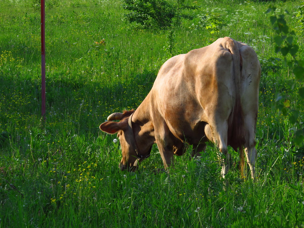
M 240 98 L 240 86 L 241 86 L 241 68 L 242 68 L 242 57 L 240 55 L 239 48 L 237 46 L 237 41 L 231 39 L 230 52 L 232 54 L 233 60 L 233 84 L 235 85 L 235 104 L 232 111 L 231 118 L 231 143 L 230 145 L 234 150 L 237 147 L 242 147 L 245 142 L 244 138 L 244 117 Z M 240 148 L 241 149 L 241 148 Z

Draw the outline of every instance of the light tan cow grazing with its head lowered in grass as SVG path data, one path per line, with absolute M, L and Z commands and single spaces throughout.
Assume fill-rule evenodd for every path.
M 100 129 L 118 133 L 121 170 L 135 170 L 157 143 L 165 168 L 183 154 L 185 142 L 193 154 L 216 143 L 222 175 L 229 170 L 227 146 L 239 149 L 244 175 L 244 148 L 254 177 L 255 129 L 261 67 L 255 51 L 229 37 L 167 60 L 136 111 L 113 113 Z M 120 120 L 115 122 L 112 120 Z

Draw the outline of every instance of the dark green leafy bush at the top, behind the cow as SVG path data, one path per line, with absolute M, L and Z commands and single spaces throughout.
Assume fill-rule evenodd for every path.
M 123 0 L 126 19 L 145 27 L 170 27 L 175 20 L 179 24 L 181 18 L 191 19 L 186 9 L 195 9 L 185 3 L 185 0 Z

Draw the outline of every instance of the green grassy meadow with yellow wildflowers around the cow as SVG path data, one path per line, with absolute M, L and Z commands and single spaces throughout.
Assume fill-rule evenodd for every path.
M 39 2 L 0 0 L 0 228 L 304 227 L 304 148 L 294 145 L 275 100 L 286 94 L 300 122 L 304 102 L 275 53 L 269 2 L 198 0 L 194 19 L 143 29 L 124 19 L 120 0 L 46 0 L 45 122 Z M 290 13 L 285 19 L 303 57 L 301 1 L 274 4 L 276 14 Z M 222 26 L 211 33 L 204 15 Z M 189 146 L 169 174 L 156 145 L 138 171 L 121 172 L 116 135 L 99 125 L 136 109 L 172 55 L 223 36 L 253 47 L 261 62 L 256 181 L 240 179 L 230 149 L 225 186 L 211 144 L 190 161 Z

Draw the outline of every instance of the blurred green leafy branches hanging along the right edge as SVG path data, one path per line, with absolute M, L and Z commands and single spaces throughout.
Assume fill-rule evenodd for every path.
M 270 6 L 266 13 L 271 11 L 275 12 L 276 7 Z M 285 11 L 288 14 L 288 11 Z M 285 64 L 292 68 L 292 73 L 297 81 L 300 82 L 302 87 L 299 88 L 298 93 L 300 98 L 304 98 L 303 91 L 303 81 L 304 81 L 304 61 L 297 56 L 299 46 L 294 42 L 295 32 L 290 30 L 287 22 L 285 20 L 285 15 L 280 14 L 278 16 L 273 15 L 269 17 L 271 25 L 275 30 L 276 36 L 273 37 L 273 42 L 275 43 L 275 52 L 280 52 L 284 57 Z M 287 55 L 290 54 L 291 60 L 287 59 Z M 292 90 L 294 90 L 292 88 Z M 290 108 L 290 101 L 287 99 L 286 95 L 277 94 L 276 101 L 284 100 L 278 105 L 279 110 L 284 116 L 288 116 L 289 123 L 291 125 L 289 132 L 293 133 L 293 140 L 295 145 L 302 146 L 304 142 L 304 129 L 303 123 L 299 121 L 299 108 L 296 106 L 295 109 Z

